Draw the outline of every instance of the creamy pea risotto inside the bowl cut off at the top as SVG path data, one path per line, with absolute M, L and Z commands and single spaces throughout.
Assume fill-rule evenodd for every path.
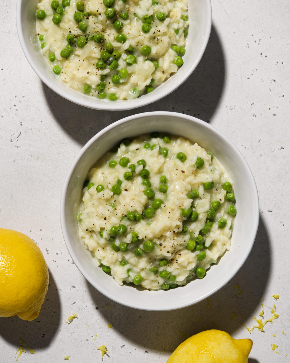
M 53 72 L 100 99 L 150 93 L 183 64 L 187 0 L 42 0 L 36 16 Z

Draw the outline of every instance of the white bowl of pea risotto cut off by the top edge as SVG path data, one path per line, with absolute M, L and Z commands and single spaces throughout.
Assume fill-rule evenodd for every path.
M 171 93 L 194 71 L 210 0 L 17 1 L 17 31 L 41 80 L 93 109 L 125 110 Z

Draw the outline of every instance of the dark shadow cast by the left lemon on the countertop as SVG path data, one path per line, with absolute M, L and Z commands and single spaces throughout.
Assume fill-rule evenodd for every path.
M 25 321 L 17 315 L 10 318 L 0 318 L 0 335 L 17 348 L 18 339 L 31 344 L 33 349 L 44 348 L 51 344 L 59 329 L 61 303 L 58 288 L 49 271 L 49 287 L 40 314 L 35 320 Z

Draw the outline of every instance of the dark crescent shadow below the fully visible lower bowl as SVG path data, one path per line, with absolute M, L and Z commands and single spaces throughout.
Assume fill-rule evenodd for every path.
M 98 311 L 124 339 L 147 351 L 170 354 L 183 340 L 203 330 L 219 329 L 235 336 L 260 305 L 271 273 L 270 261 L 269 236 L 260 215 L 254 246 L 245 264 L 222 289 L 196 305 L 161 312 L 136 310 L 111 301 L 88 282 L 87 286 Z M 108 304 L 112 309 L 101 308 Z M 250 337 L 246 329 L 244 335 Z

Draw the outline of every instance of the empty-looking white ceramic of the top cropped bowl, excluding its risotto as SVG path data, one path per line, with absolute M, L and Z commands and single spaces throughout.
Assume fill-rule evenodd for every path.
M 188 14 L 192 24 L 197 12 L 198 28 L 195 36 L 194 26 L 190 26 L 187 37 L 184 65 L 176 74 L 158 86 L 154 92 L 142 97 L 125 101 L 105 101 L 82 94 L 71 89 L 56 76 L 40 52 L 36 35 L 36 7 L 39 0 L 17 0 L 16 25 L 20 44 L 25 57 L 38 77 L 54 92 L 81 106 L 97 110 L 129 110 L 155 102 L 179 87 L 198 65 L 211 31 L 211 2 L 210 0 L 189 0 Z

